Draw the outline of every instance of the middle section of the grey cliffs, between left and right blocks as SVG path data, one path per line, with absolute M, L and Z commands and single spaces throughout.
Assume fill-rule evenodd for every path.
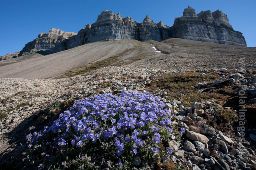
M 164 35 L 165 38 L 167 35 Z M 68 39 L 67 49 L 96 41 L 118 39 L 136 39 L 139 41 L 153 39 L 161 41 L 163 37 L 157 24 L 149 16 L 146 16 L 142 23 L 138 23 L 129 16 L 122 18 L 120 13 L 113 14 L 113 12 L 105 10 L 98 16 L 94 24 L 90 25 L 89 23 L 78 32 L 78 35 Z

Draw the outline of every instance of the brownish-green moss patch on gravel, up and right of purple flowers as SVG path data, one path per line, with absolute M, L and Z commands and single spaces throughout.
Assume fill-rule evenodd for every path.
M 209 73 L 206 76 L 200 76 L 199 72 L 185 72 L 181 74 L 164 74 L 156 77 L 150 84 L 147 84 L 147 91 L 152 92 L 154 90 L 170 91 L 167 94 L 167 100 L 180 100 L 182 104 L 187 107 L 193 102 L 201 102 L 212 100 L 208 95 L 199 92 L 195 86 L 202 82 L 212 82 L 218 76 L 214 73 Z M 163 91 L 163 92 L 164 92 Z M 180 94 L 183 94 L 181 96 Z

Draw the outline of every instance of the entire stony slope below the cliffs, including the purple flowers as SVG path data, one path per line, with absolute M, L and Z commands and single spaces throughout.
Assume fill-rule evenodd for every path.
M 1 64 L 1 170 L 256 169 L 255 47 L 123 39 Z

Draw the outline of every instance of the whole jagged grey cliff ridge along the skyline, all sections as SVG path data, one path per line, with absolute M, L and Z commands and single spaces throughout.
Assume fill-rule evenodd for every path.
M 40 33 L 38 37 L 26 44 L 19 56 L 41 51 L 44 54 L 56 53 L 96 41 L 119 39 L 136 39 L 139 41 L 162 41 L 167 38 L 182 38 L 210 43 L 246 46 L 246 41 L 239 31 L 234 31 L 227 15 L 222 11 L 202 11 L 196 14 L 188 6 L 183 16 L 175 18 L 169 27 L 162 21 L 154 23 L 149 16 L 142 23 L 133 21 L 120 13 L 105 10 L 95 23 L 89 23 L 78 34 L 51 28 L 49 33 Z

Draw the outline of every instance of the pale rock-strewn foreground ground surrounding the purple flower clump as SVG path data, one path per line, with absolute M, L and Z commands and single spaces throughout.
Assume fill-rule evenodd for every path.
M 214 89 L 230 87 L 235 95 L 229 94 L 229 100 L 233 100 L 232 98 L 236 95 L 238 97 L 242 85 L 247 85 L 245 91 L 248 98 L 245 107 L 254 108 L 246 113 L 246 119 L 248 119 L 256 109 L 256 72 L 253 70 L 230 71 L 225 68 L 193 71 L 192 74 L 206 80 L 206 82 L 201 79 L 198 79 L 201 82 L 195 81 L 196 86 L 193 84 L 193 89 L 207 96 Z M 138 92 L 146 90 L 161 96 L 161 100 L 166 102 L 166 107 L 173 113 L 174 127 L 169 142 L 173 153 L 159 157 L 156 160 L 155 169 L 165 167 L 164 164 L 168 159 L 173 160 L 176 167 L 179 166 L 181 169 L 186 167 L 194 170 L 254 169 L 256 165 L 255 125 L 245 119 L 245 138 L 242 139 L 243 133 L 237 131 L 239 111 L 232 107 L 232 102 L 229 102 L 231 107 L 228 107 L 226 101 L 215 96 L 216 98 L 212 100 L 206 98 L 202 101 L 190 98 L 188 103 L 182 100 L 182 97 L 189 96 L 188 94 L 170 96 L 172 90 L 164 86 L 156 86 L 155 82 L 161 82 L 161 78 L 179 75 L 189 77 L 191 71 L 122 65 L 102 68 L 66 79 L 1 79 L 1 162 L 4 163 L 6 160 L 8 162 L 8 157 L 10 160 L 13 153 L 20 152 L 19 149 L 26 145 L 25 136 L 28 133 L 50 124 L 56 119 L 58 113 L 67 109 L 74 100 L 109 92 L 116 94 L 124 90 Z M 207 76 L 213 76 L 214 79 L 208 79 Z M 169 100 L 170 97 L 173 100 Z M 192 102 L 192 100 L 198 102 Z M 233 100 L 235 101 L 239 107 L 239 101 Z M 186 132 L 181 138 L 177 138 L 175 134 L 180 127 L 186 129 Z M 2 168 L 4 165 L 6 164 L 2 164 Z

